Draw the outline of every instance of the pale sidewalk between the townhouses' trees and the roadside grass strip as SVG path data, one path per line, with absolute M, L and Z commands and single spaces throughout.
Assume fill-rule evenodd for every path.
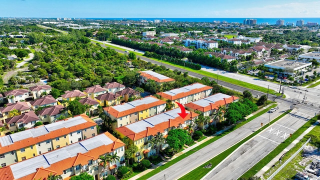
M 264 110 L 265 108 L 269 107 L 270 105 L 272 105 L 272 104 L 266 105 L 265 107 L 262 107 L 262 108 L 258 109 L 257 111 L 249 114 L 249 115 L 246 116 L 245 118 L 247 119 L 247 118 L 251 117 L 252 115 L 260 112 L 261 110 Z M 137 179 L 137 178 L 139 178 L 139 177 L 141 177 L 141 176 L 149 173 L 150 171 L 152 171 L 153 169 L 157 168 L 158 166 L 164 165 L 166 162 L 168 162 L 168 161 L 170 161 L 170 160 L 172 160 L 172 159 L 174 159 L 174 158 L 176 158 L 176 157 L 178 157 L 178 156 L 186 153 L 187 151 L 189 151 L 189 150 L 197 147 L 198 145 L 202 144 L 203 142 L 206 142 L 206 141 L 208 141 L 209 139 L 213 138 L 214 136 L 221 134 L 222 132 L 228 130 L 228 129 L 231 128 L 232 126 L 233 126 L 233 125 L 229 125 L 229 126 L 225 127 L 224 129 L 221 129 L 221 130 L 215 132 L 213 135 L 208 136 L 208 137 L 206 137 L 205 139 L 203 139 L 203 140 L 201 140 L 201 141 L 199 141 L 199 142 L 196 142 L 195 144 L 193 144 L 193 145 L 191 145 L 191 146 L 183 149 L 182 151 L 174 154 L 174 155 L 173 155 L 172 157 L 170 157 L 170 158 L 166 158 L 165 160 L 163 160 L 162 162 L 159 162 L 159 163 L 156 164 L 156 165 L 152 165 L 152 164 L 151 164 L 151 166 L 152 166 L 151 168 L 148 168 L 148 169 L 144 170 L 143 172 L 140 172 L 140 173 L 136 174 L 135 176 L 129 178 L 129 180 Z

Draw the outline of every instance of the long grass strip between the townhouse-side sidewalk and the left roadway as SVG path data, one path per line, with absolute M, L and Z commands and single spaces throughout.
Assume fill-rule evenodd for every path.
M 275 106 L 276 106 L 276 104 L 271 105 L 270 107 L 261 110 L 260 112 L 258 112 L 258 113 L 256 113 L 256 114 L 252 115 L 251 117 L 249 117 L 247 120 L 245 120 L 245 121 L 243 121 L 243 122 L 241 122 L 241 123 L 239 123 L 239 124 L 236 124 L 236 125 L 234 125 L 233 127 L 231 127 L 230 129 L 222 132 L 222 135 L 214 136 L 213 138 L 211 138 L 211 139 L 203 142 L 202 144 L 198 145 L 197 147 L 191 149 L 190 151 L 188 151 L 188 152 L 186 152 L 186 153 L 184 153 L 184 154 L 181 154 L 180 156 L 172 159 L 171 161 L 168 161 L 168 162 L 165 163 L 164 165 L 155 168 L 155 169 L 152 170 L 151 172 L 143 175 L 142 177 L 140 177 L 140 178 L 138 178 L 138 179 L 147 179 L 147 178 L 150 178 L 150 177 L 153 176 L 154 174 L 160 172 L 160 171 L 163 170 L 163 169 L 168 168 L 169 166 L 171 166 L 172 164 L 178 162 L 179 160 L 183 159 L 184 157 L 187 157 L 187 156 L 191 155 L 192 153 L 194 153 L 195 151 L 197 151 L 197 150 L 205 147 L 206 145 L 214 142 L 215 140 L 221 138 L 223 135 L 226 135 L 226 134 L 232 132 L 233 130 L 241 127 L 242 125 L 244 125 L 244 124 L 246 124 L 247 122 L 251 121 L 252 119 L 260 116 L 261 114 L 267 112 L 270 108 L 275 107 Z

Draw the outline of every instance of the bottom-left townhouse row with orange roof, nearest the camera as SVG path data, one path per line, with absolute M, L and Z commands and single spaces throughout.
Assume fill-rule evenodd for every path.
M 70 179 L 73 175 L 87 172 L 95 180 L 114 173 L 119 166 L 124 166 L 124 143 L 109 132 L 76 142 L 48 153 L 5 166 L 0 169 L 7 174 L 6 180 L 44 179 L 48 175 L 61 175 Z M 110 162 L 103 169 L 99 156 L 116 154 L 120 160 Z

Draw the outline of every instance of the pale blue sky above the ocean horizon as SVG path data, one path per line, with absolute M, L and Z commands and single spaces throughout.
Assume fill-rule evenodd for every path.
M 320 17 L 320 0 L 1 0 L 0 17 Z

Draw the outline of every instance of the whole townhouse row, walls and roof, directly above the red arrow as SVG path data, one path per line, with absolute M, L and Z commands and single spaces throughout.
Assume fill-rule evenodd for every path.
M 180 88 L 175 88 L 172 90 L 158 92 L 156 94 L 160 95 L 160 99 L 167 101 L 170 100 L 173 103 L 173 108 L 177 107 L 177 103 L 186 104 L 211 94 L 212 87 L 203 85 L 201 83 L 193 83 Z

